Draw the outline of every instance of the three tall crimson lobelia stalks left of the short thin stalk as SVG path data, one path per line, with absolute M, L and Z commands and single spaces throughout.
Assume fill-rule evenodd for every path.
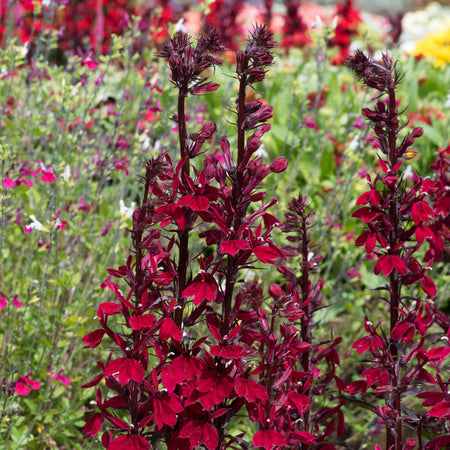
M 239 316 L 237 286 L 244 269 L 283 256 L 271 240 L 280 222 L 267 213 L 276 200 L 265 202 L 260 185 L 270 173 L 283 171 L 286 161 L 277 158 L 266 166 L 255 155 L 270 129 L 272 108 L 259 100 L 246 103 L 246 97 L 264 80 L 273 46 L 272 33 L 258 26 L 237 53 L 234 151 L 226 138 L 220 149 L 204 149 L 216 131 L 213 122 L 198 132 L 187 130 L 186 99 L 218 87 L 205 77 L 220 64 L 214 54 L 223 48 L 215 32 L 195 46 L 177 34 L 158 54 L 167 60 L 178 90 L 172 119 L 179 158 L 172 161 L 162 152 L 146 162 L 143 198 L 133 214 L 132 254 L 108 271 L 128 285 L 128 294 L 109 283 L 116 300 L 99 306 L 100 328 L 83 338 L 94 348 L 107 335 L 120 354 L 99 362 L 101 373 L 84 385 L 104 379 L 115 393 L 103 399 L 98 389 L 98 412 L 84 429 L 86 436 L 96 436 L 109 423 L 102 435 L 108 449 L 158 442 L 169 449 L 202 444 L 214 450 L 229 442 L 247 448 L 227 425 L 247 403 L 251 409 L 265 400 L 249 392 L 264 393 L 267 383 L 255 381 L 249 366 L 255 350 L 246 340 L 249 325 Z

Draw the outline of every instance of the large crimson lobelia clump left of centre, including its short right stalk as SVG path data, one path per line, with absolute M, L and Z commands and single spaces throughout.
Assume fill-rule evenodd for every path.
M 83 338 L 87 348 L 99 346 L 105 335 L 113 345 L 109 357 L 98 362 L 101 373 L 84 385 L 104 380 L 113 393 L 104 398 L 97 389 L 98 411 L 84 427 L 89 437 L 107 424 L 101 440 L 108 449 L 159 443 L 168 449 L 249 448 L 245 433 L 236 431 L 238 422 L 232 422 L 243 408 L 257 426 L 254 447 L 303 449 L 343 431 L 340 405 L 320 405 L 310 413 L 313 397 L 340 380 L 334 348 L 339 338 L 312 344 L 322 282 L 313 287 L 308 281 L 315 259 L 304 259 L 306 235 L 299 238 L 302 298 L 298 280 L 285 268 L 291 277 L 286 293 L 273 285 L 267 308 L 258 283 L 243 283 L 255 263 L 273 264 L 285 253 L 271 239 L 281 226 L 267 212 L 276 200 L 266 201 L 260 185 L 287 163 L 276 158 L 266 166 L 255 155 L 270 129 L 265 122 L 272 108 L 260 100 L 246 103 L 247 90 L 265 78 L 274 45 L 272 33 L 257 26 L 246 49 L 237 52 L 239 90 L 235 106 L 229 106 L 236 117 L 235 152 L 226 138 L 220 150 L 203 148 L 214 136 L 214 123 L 190 135 L 186 127 L 186 98 L 218 87 L 204 77 L 220 63 L 213 56 L 222 50 L 216 33 L 200 37 L 196 46 L 177 34 L 159 53 L 178 90 L 172 119 L 180 156 L 173 162 L 163 152 L 146 162 L 143 198 L 133 213 L 132 254 L 125 265 L 108 270 L 128 291 L 108 282 L 116 300 L 100 304 L 100 328 Z M 291 231 L 306 233 L 311 216 L 305 205 L 300 200 L 293 206 Z M 316 365 L 325 360 L 328 370 L 315 379 Z

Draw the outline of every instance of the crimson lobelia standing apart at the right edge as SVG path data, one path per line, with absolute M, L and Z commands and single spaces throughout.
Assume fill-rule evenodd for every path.
M 430 406 L 432 395 L 428 386 L 438 385 L 440 399 L 448 398 L 446 382 L 441 380 L 441 364 L 449 353 L 447 346 L 426 350 L 431 339 L 428 329 L 436 323 L 443 327 L 448 337 L 448 321 L 434 304 L 436 286 L 428 276 L 432 264 L 442 257 L 442 236 L 433 227 L 443 214 L 439 204 L 430 206 L 430 194 L 439 192 L 439 180 L 423 179 L 415 175 L 407 178 L 402 165 L 408 148 L 423 133 L 421 128 L 400 140 L 400 112 L 396 88 L 402 76 L 388 55 L 375 61 L 357 51 L 347 58 L 347 66 L 369 88 L 378 91 L 373 109 L 362 113 L 372 122 L 380 151 L 379 171 L 372 179 L 366 175 L 369 189 L 357 200 L 358 209 L 352 214 L 366 225 L 366 230 L 356 239 L 376 262 L 374 272 L 386 277 L 386 285 L 378 288 L 384 295 L 377 296 L 387 305 L 389 329 L 382 321 L 372 323 L 367 317 L 367 335 L 356 340 L 353 348 L 359 354 L 368 352 L 368 367 L 362 372 L 363 380 L 349 384 L 345 389 L 351 394 L 365 394 L 370 390 L 383 406 L 370 404 L 386 430 L 386 449 L 440 448 L 446 433 L 447 413 L 415 411 L 411 398 L 422 387 L 418 398 L 426 399 L 422 406 Z M 386 96 L 385 98 L 383 98 Z M 411 181 L 410 181 L 411 180 Z M 420 285 L 426 297 L 421 298 L 416 286 Z M 416 402 L 417 403 L 417 402 Z M 433 409 L 433 408 L 432 408 Z M 448 425 L 448 424 L 447 424 Z M 414 430 L 415 439 L 406 438 L 404 428 Z M 425 437 L 434 433 L 441 436 L 425 445 Z M 445 436 L 444 436 L 445 435 Z

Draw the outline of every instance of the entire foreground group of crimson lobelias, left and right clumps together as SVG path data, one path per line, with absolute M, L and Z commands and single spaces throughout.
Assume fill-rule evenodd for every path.
M 162 152 L 145 163 L 143 197 L 130 230 L 132 254 L 125 265 L 108 270 L 126 282 L 127 292 L 121 283 L 110 283 L 115 301 L 99 305 L 100 328 L 83 338 L 87 348 L 105 337 L 117 348 L 84 385 L 104 380 L 113 392 L 104 398 L 97 388 L 98 412 L 84 427 L 85 437 L 97 436 L 106 423 L 101 440 L 108 449 L 160 443 L 169 449 L 249 448 L 238 425 L 243 411 L 255 424 L 253 447 L 333 449 L 345 442 L 343 407 L 352 402 L 378 417 L 386 448 L 414 447 L 413 438 L 403 437 L 405 426 L 416 432 L 421 448 L 424 436 L 439 436 L 428 441 L 428 449 L 450 440 L 442 379 L 450 347 L 426 347 L 432 325 L 447 334 L 449 325 L 431 300 L 437 291 L 428 275 L 443 257 L 440 224 L 448 220 L 442 158 L 433 166 L 440 174 L 436 181 L 416 175 L 410 182 L 401 175 L 404 155 L 423 132 L 414 128 L 400 139 L 396 88 L 402 77 L 387 55 L 381 61 L 361 51 L 349 57 L 357 78 L 379 92 L 375 108 L 362 113 L 373 124 L 380 170 L 374 179 L 365 175 L 369 190 L 358 198 L 353 217 L 367 226 L 356 245 L 375 259 L 375 275 L 388 280 L 377 298 L 387 305 L 390 326 L 386 330 L 382 320 L 374 324 L 366 317 L 367 335 L 352 348 L 371 356 L 361 361 L 361 379 L 344 381 L 338 373 L 342 337 L 316 341 L 313 333 L 325 281 L 313 281 L 322 257 L 311 242 L 315 223 L 308 198 L 292 200 L 283 224 L 268 212 L 276 200 L 260 189 L 270 173 L 286 168 L 283 158 L 266 165 L 255 154 L 270 130 L 272 107 L 247 100 L 247 90 L 265 79 L 274 45 L 270 31 L 258 26 L 245 50 L 236 53 L 238 94 L 228 106 L 235 117 L 234 151 L 225 137 L 219 147 L 205 148 L 216 142 L 214 122 L 187 131 L 186 99 L 218 88 L 204 76 L 221 63 L 215 32 L 196 45 L 178 33 L 158 54 L 178 92 L 172 120 L 179 156 L 174 161 Z M 278 227 L 291 245 L 274 243 Z M 249 271 L 289 257 L 298 269 L 279 265 L 285 281 L 271 284 L 266 297 L 264 283 Z M 420 385 L 427 389 L 418 393 Z M 429 385 L 440 390 L 429 391 Z M 431 398 L 440 401 L 429 411 L 406 413 L 413 396 L 424 400 L 423 407 Z

